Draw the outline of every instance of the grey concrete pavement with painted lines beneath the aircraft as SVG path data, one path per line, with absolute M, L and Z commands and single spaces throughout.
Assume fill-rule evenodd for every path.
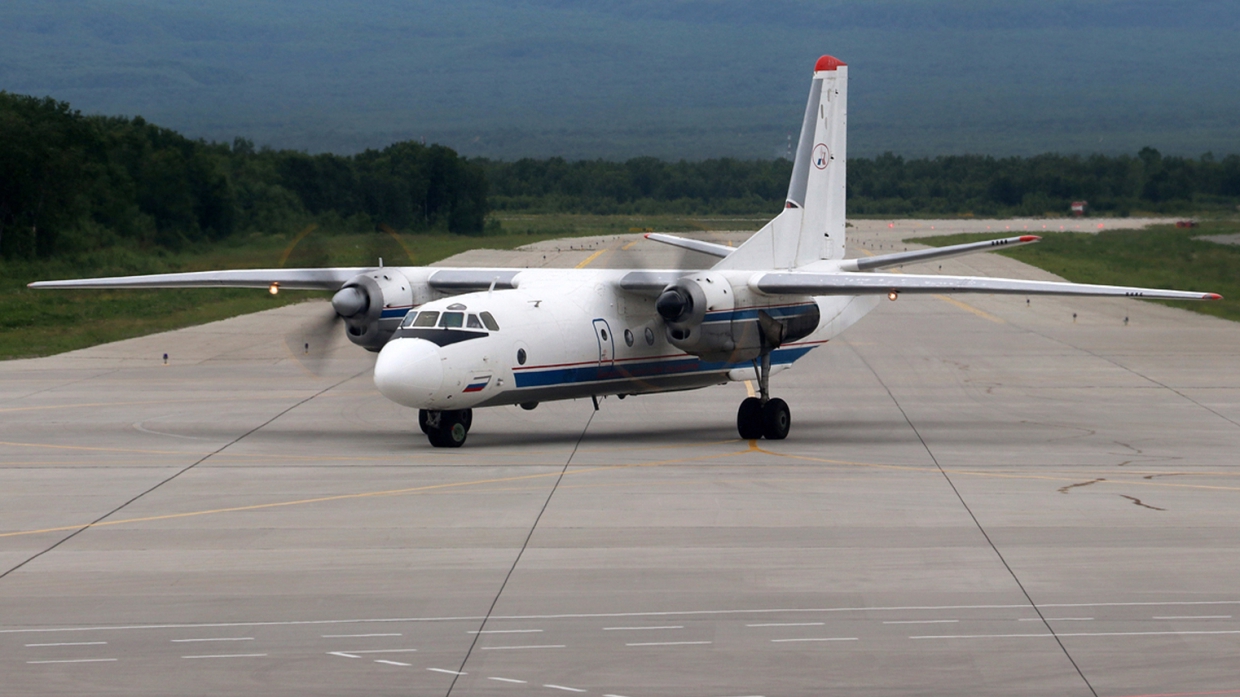
M 785 442 L 737 383 L 451 451 L 371 355 L 298 351 L 322 311 L 0 362 L 0 695 L 1240 695 L 1240 325 L 900 298 L 773 378 Z

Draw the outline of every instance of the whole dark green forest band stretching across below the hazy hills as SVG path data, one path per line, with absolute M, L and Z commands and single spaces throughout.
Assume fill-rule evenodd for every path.
M 465 159 L 402 141 L 356 155 L 186 138 L 141 117 L 83 115 L 0 92 L 0 255 L 118 244 L 177 251 L 239 234 L 497 232 L 505 213 L 775 215 L 785 159 Z M 884 154 L 848 161 L 849 216 L 1234 213 L 1240 155 L 992 158 Z

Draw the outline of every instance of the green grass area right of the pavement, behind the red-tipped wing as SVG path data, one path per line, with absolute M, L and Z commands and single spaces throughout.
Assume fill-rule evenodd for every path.
M 1194 313 L 1240 321 L 1240 246 L 1194 239 L 1203 234 L 1240 233 L 1240 222 L 1207 221 L 1195 228 L 1152 226 L 1097 234 L 1040 232 L 1042 242 L 999 252 L 1074 283 L 1140 285 L 1219 293 L 1213 303 L 1162 301 Z M 947 234 L 909 239 L 931 247 L 993 238 Z

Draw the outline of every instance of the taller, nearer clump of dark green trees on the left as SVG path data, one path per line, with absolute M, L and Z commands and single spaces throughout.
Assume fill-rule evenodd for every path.
M 4 258 L 115 243 L 177 249 L 325 217 L 337 228 L 471 234 L 486 215 L 481 167 L 440 145 L 352 156 L 255 149 L 0 92 Z

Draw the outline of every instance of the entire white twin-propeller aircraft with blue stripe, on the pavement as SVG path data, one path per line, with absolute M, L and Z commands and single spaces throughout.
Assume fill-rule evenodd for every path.
M 649 234 L 719 258 L 707 270 L 427 267 L 224 270 L 32 283 L 31 288 L 239 286 L 335 290 L 348 339 L 378 351 L 374 384 L 419 409 L 439 448 L 465 443 L 472 409 L 755 380 L 742 438 L 782 439 L 787 404 L 770 376 L 901 293 L 1219 299 L 1114 285 L 874 273 L 996 247 L 1011 237 L 844 259 L 848 67 L 818 58 L 784 211 L 737 248 Z

